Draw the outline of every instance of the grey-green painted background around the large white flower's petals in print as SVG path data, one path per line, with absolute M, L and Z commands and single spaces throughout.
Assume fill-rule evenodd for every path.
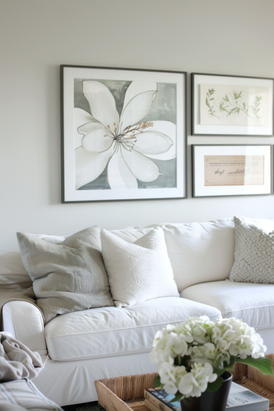
M 91 79 L 74 79 L 74 107 L 78 107 L 90 113 L 90 106 L 83 94 L 83 81 Z M 97 80 L 106 85 L 112 93 L 116 109 L 121 115 L 124 95 L 131 81 Z M 157 93 L 147 115 L 142 119 L 145 121 L 166 120 L 176 124 L 176 84 L 157 83 Z M 91 113 L 90 113 L 91 114 Z M 138 188 L 166 188 L 176 187 L 176 158 L 168 161 L 153 160 L 159 167 L 160 173 L 157 180 L 142 182 L 138 180 Z M 80 187 L 79 190 L 110 189 L 107 178 L 107 166 L 99 177 Z

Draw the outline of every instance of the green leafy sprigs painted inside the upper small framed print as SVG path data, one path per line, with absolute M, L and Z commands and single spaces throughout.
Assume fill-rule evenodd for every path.
M 244 113 L 249 118 L 260 122 L 260 104 L 262 96 L 256 95 L 251 104 L 246 101 L 243 90 L 235 90 L 223 97 L 215 99 L 214 88 L 208 88 L 205 105 L 208 107 L 208 115 L 219 120 L 226 120 L 229 116 Z

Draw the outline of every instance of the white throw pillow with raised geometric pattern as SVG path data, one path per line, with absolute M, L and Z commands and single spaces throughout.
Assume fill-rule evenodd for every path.
M 134 243 L 102 230 L 101 243 L 116 307 L 127 307 L 157 297 L 179 297 L 160 227 Z

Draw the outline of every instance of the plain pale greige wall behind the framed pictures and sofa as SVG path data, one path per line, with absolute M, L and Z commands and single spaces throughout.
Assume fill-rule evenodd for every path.
M 192 199 L 190 146 L 189 199 L 61 204 L 59 92 L 61 64 L 274 77 L 273 0 L 0 0 L 0 20 L 0 250 L 16 231 L 274 218 L 274 196 Z

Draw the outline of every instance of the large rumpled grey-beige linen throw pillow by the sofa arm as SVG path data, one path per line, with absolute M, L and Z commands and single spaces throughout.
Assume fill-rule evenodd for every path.
M 113 304 L 101 254 L 100 227 L 59 244 L 17 233 L 22 261 L 46 323 L 57 314 Z

